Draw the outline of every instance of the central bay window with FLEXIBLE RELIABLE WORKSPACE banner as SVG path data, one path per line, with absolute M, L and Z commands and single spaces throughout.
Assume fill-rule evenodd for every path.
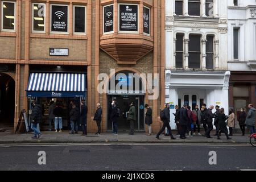
M 118 31 L 127 34 L 136 34 L 138 31 L 138 5 L 118 4 Z

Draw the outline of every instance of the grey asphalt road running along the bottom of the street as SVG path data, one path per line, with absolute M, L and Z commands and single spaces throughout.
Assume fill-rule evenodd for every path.
M 46 165 L 38 164 L 39 151 L 46 152 Z M 210 151 L 216 151 L 216 165 L 209 164 Z M 251 146 L 0 146 L 0 170 L 247 170 L 256 169 L 255 159 Z

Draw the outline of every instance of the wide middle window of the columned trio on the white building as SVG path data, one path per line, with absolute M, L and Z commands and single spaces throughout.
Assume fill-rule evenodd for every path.
M 188 67 L 191 69 L 201 68 L 201 36 L 189 35 L 189 57 Z

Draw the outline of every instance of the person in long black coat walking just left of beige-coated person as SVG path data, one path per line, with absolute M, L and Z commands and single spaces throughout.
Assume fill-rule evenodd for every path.
M 232 139 L 229 138 L 228 135 L 228 128 L 226 127 L 226 119 L 228 119 L 228 116 L 225 115 L 224 108 L 221 108 L 220 111 L 218 112 L 218 126 L 217 126 L 217 139 L 221 139 L 220 135 L 221 133 L 225 133 L 226 139 Z

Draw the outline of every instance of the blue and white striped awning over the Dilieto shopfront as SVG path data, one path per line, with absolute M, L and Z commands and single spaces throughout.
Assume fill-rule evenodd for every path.
M 82 73 L 30 73 L 27 93 L 31 96 L 32 92 L 86 92 L 86 75 Z

